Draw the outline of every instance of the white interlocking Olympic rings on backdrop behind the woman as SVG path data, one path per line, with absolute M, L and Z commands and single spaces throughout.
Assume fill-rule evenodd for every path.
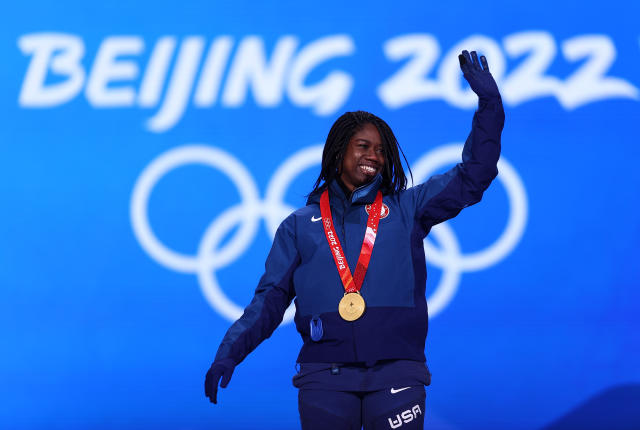
M 421 183 L 443 166 L 460 160 L 463 145 L 440 146 L 425 153 L 414 163 L 415 183 Z M 133 232 L 142 248 L 159 264 L 168 269 L 197 276 L 200 288 L 210 305 L 230 321 L 238 319 L 243 308 L 224 293 L 216 277 L 221 269 L 240 257 L 254 240 L 260 221 L 265 224 L 271 238 L 284 218 L 296 208 L 284 202 L 286 191 L 304 170 L 320 164 L 323 145 L 304 148 L 286 159 L 272 176 L 264 200 L 247 168 L 228 152 L 213 146 L 192 144 L 171 149 L 154 159 L 138 177 L 131 196 L 130 216 Z M 167 173 L 184 165 L 207 165 L 226 174 L 234 183 L 241 202 L 211 221 L 196 255 L 187 255 L 166 247 L 153 233 L 149 223 L 148 203 L 151 192 Z M 513 166 L 500 158 L 498 180 L 504 186 L 509 200 L 509 216 L 504 231 L 490 246 L 471 254 L 462 254 L 451 227 L 445 222 L 436 225 L 424 241 L 427 261 L 443 270 L 434 292 L 427 298 L 429 316 L 434 317 L 451 301 L 460 284 L 463 272 L 486 269 L 505 258 L 518 244 L 527 221 L 528 203 L 524 185 Z M 234 228 L 235 235 L 220 247 L 223 239 Z M 435 238 L 440 248 L 429 238 Z M 293 320 L 294 305 L 287 309 L 283 323 Z

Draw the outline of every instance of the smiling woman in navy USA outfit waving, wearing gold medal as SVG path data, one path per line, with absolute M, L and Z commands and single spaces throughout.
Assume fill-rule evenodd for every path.
M 459 59 L 479 106 L 462 163 L 447 173 L 406 189 L 383 120 L 358 111 L 333 124 L 307 205 L 278 228 L 255 296 L 207 372 L 213 403 L 220 379 L 226 387 L 295 297 L 302 428 L 422 428 L 430 383 L 423 240 L 480 201 L 498 174 L 504 124 L 486 58 L 462 51 Z

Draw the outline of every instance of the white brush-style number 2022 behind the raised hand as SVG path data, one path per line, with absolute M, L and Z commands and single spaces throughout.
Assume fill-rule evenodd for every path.
M 388 60 L 407 63 L 378 87 L 378 96 L 391 109 L 411 103 L 443 99 L 459 108 L 473 108 L 477 98 L 460 79 L 458 54 L 476 50 L 487 57 L 498 82 L 502 99 L 511 106 L 552 96 L 567 110 L 608 98 L 638 100 L 638 88 L 624 79 L 606 76 L 616 58 L 616 48 L 606 35 L 582 35 L 562 43 L 562 55 L 569 62 L 586 61 L 564 80 L 545 74 L 557 53 L 553 37 L 543 31 L 509 35 L 503 40 L 510 58 L 526 55 L 507 76 L 505 58 L 498 44 L 486 36 L 472 35 L 460 41 L 444 56 L 436 79 L 427 75 L 440 55 L 438 41 L 429 34 L 408 34 L 388 40 L 384 54 Z

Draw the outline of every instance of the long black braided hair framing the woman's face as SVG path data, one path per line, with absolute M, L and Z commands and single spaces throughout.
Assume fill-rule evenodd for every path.
M 324 150 L 322 151 L 322 169 L 320 170 L 318 179 L 316 179 L 311 194 L 324 191 L 331 181 L 340 176 L 342 159 L 347 150 L 349 140 L 351 140 L 354 134 L 362 130 L 366 124 L 373 124 L 378 129 L 384 149 L 385 160 L 382 169 L 382 185 L 380 190 L 383 194 L 390 194 L 407 188 L 407 177 L 402 168 L 400 154 L 402 154 L 402 158 L 404 158 L 404 162 L 407 164 L 412 180 L 413 175 L 411 174 L 407 157 L 405 157 L 402 148 L 400 148 L 396 137 L 393 135 L 391 127 L 374 114 L 359 110 L 356 112 L 346 112 L 331 126 L 327 141 L 324 144 Z

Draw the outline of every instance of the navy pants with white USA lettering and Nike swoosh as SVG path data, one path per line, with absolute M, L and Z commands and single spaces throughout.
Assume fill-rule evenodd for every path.
M 302 430 L 422 429 L 424 405 L 423 385 L 371 392 L 298 392 Z

